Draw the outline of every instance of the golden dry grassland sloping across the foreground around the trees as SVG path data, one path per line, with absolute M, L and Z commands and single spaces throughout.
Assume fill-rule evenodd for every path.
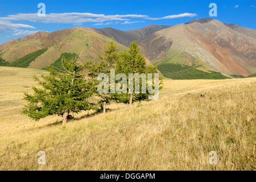
M 256 78 L 164 80 L 158 100 L 83 112 L 62 126 L 21 115 L 23 92 L 42 72 L 0 67 L 1 170 L 256 169 Z

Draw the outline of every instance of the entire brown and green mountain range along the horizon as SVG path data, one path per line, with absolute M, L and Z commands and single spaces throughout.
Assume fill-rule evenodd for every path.
M 195 19 L 176 26 L 151 25 L 138 30 L 75 27 L 51 33 L 37 32 L 0 45 L 0 56 L 11 63 L 41 51 L 29 68 L 45 68 L 62 53 L 82 52 L 81 61 L 99 61 L 98 54 L 109 38 L 119 50 L 136 40 L 147 64 L 158 66 L 164 76 L 174 73 L 222 73 L 224 76 L 249 76 L 256 73 L 256 30 L 215 19 Z M 186 70 L 186 72 L 184 72 Z

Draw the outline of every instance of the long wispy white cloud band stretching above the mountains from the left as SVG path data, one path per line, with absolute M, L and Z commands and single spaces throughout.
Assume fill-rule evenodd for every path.
M 35 30 L 21 30 L 22 28 L 33 28 L 29 24 L 20 24 L 13 22 L 37 22 L 37 23 L 67 23 L 73 24 L 74 26 L 81 26 L 82 23 L 95 23 L 95 26 L 102 26 L 107 24 L 131 24 L 131 23 L 142 23 L 144 20 L 160 20 L 160 19 L 174 19 L 183 17 L 194 17 L 197 16 L 195 13 L 182 13 L 177 15 L 167 15 L 161 18 L 150 17 L 149 15 L 140 14 L 126 14 L 126 15 L 104 15 L 104 14 L 93 14 L 93 13 L 51 13 L 46 16 L 38 16 L 34 14 L 15 14 L 0 17 L 0 33 L 10 31 L 13 35 L 28 35 L 34 34 Z

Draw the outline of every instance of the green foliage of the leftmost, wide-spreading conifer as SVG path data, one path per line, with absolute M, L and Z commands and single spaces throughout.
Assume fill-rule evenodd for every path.
M 27 104 L 23 107 L 23 114 L 38 121 L 48 115 L 97 109 L 88 101 L 95 86 L 85 77 L 84 67 L 77 64 L 77 60 L 63 59 L 63 65 L 65 71 L 57 72 L 48 67 L 49 75 L 42 75 L 42 80 L 34 77 L 39 87 L 33 87 L 33 94 L 25 93 Z

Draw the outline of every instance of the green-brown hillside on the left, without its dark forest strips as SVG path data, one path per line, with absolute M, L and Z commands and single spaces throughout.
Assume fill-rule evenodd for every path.
M 31 37 L 35 35 L 31 35 Z M 48 48 L 46 52 L 31 62 L 29 68 L 45 68 L 54 63 L 62 53 L 80 53 L 82 62 L 99 61 L 98 54 L 102 53 L 105 43 L 109 40 L 106 36 L 98 34 L 91 28 L 77 27 L 58 30 L 39 36 L 38 39 L 23 40 L 5 47 L 0 55 L 8 62 L 18 60 L 29 53 Z M 126 49 L 117 43 L 119 50 Z M 148 61 L 150 63 L 150 61 Z

